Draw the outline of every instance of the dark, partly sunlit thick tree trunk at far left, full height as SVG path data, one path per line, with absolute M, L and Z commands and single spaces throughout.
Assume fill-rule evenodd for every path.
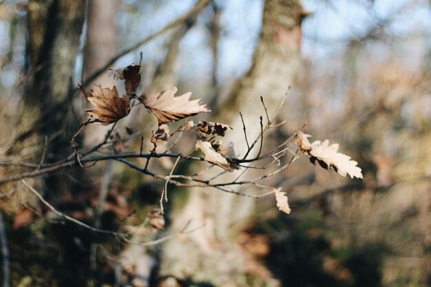
M 22 161 L 32 158 L 34 162 L 38 162 L 42 158 L 43 149 L 46 149 L 44 163 L 63 159 L 71 153 L 70 134 L 79 125 L 76 117 L 72 116 L 74 92 L 72 78 L 83 30 L 85 9 L 85 0 L 28 1 L 27 81 L 23 92 L 21 120 L 17 124 L 14 147 L 10 149 L 10 154 L 17 153 Z M 45 138 L 48 145 L 45 145 Z M 33 149 L 31 153 L 27 153 L 27 158 L 23 157 L 26 149 Z M 58 196 L 61 193 L 75 191 L 74 184 L 58 174 L 29 180 L 32 183 L 36 183 L 35 181 L 38 184 L 32 185 L 43 192 L 47 200 L 50 200 L 50 195 L 53 194 Z M 25 193 L 25 189 L 22 191 L 23 196 L 28 194 Z M 50 223 L 45 222 L 45 224 Z M 31 229 L 31 240 L 22 238 L 22 242 L 25 242 L 23 244 L 38 242 L 38 245 L 35 247 L 30 243 L 30 246 L 21 246 L 25 251 L 16 254 L 18 258 L 26 257 L 28 248 L 33 250 L 45 244 L 49 246 L 53 242 L 59 243 L 59 239 L 52 236 L 52 231 L 59 225 L 50 225 L 47 228 L 45 224 L 38 224 Z M 73 239 L 67 238 L 67 240 Z M 14 244 L 19 245 L 20 242 L 21 239 Z M 85 277 L 76 276 L 76 274 L 82 274 L 83 270 L 85 272 L 83 268 L 85 266 L 78 262 L 78 259 L 74 264 L 70 264 L 70 258 L 76 253 L 64 242 L 56 248 L 64 256 L 60 263 L 56 262 L 61 268 L 58 268 L 55 273 L 52 273 L 47 266 L 58 259 L 56 256 L 59 253 L 53 253 L 49 248 L 41 248 L 41 253 L 36 257 L 29 257 L 28 262 L 23 266 L 19 264 L 15 266 L 12 270 L 15 274 L 12 273 L 12 277 L 30 277 L 33 280 L 32 286 L 57 286 L 56 284 L 84 286 Z M 47 260 L 47 264 L 43 266 L 43 273 L 38 273 L 40 270 L 37 268 L 28 268 L 41 258 Z M 46 274 L 46 276 L 40 276 L 40 274 Z

